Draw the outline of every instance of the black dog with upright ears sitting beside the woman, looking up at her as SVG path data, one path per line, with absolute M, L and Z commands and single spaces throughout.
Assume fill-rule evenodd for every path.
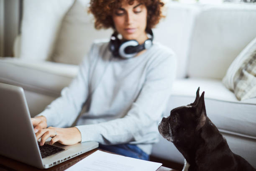
M 189 163 L 183 170 L 256 171 L 230 150 L 218 128 L 206 116 L 205 92 L 200 97 L 199 89 L 195 102 L 173 109 L 158 126 L 159 133 L 174 143 Z

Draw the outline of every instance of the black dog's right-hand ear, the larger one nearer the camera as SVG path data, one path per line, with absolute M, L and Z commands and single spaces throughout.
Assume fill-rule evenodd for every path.
M 205 92 L 202 92 L 202 95 L 197 103 L 197 128 L 196 130 L 200 130 L 205 125 L 206 122 L 206 110 L 205 110 Z

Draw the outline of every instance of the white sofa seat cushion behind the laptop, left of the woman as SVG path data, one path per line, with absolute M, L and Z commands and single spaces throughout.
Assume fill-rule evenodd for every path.
M 77 65 L 0 58 L 0 82 L 51 97 L 59 97 L 61 89 L 69 85 L 77 72 Z

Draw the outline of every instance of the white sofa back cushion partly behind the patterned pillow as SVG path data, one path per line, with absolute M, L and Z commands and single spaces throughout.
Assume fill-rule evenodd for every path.
M 192 31 L 188 75 L 222 79 L 236 56 L 256 37 L 256 5 L 224 3 L 201 8 Z

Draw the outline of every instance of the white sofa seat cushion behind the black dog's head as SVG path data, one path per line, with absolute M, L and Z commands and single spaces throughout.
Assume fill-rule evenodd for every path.
M 176 80 L 165 115 L 175 107 L 194 102 L 198 87 L 200 94 L 205 91 L 207 116 L 220 130 L 256 139 L 256 98 L 239 101 L 218 79 Z

